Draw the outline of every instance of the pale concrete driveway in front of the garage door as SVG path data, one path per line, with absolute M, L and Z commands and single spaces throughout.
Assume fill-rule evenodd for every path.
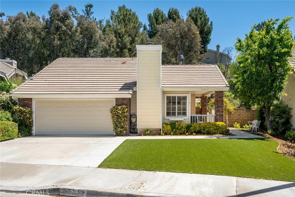
M 97 167 L 126 138 L 114 136 L 30 136 L 0 143 L 7 163 Z

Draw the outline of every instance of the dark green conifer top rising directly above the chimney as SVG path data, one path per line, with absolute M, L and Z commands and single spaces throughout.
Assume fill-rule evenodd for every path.
M 148 26 L 147 31 L 149 38 L 153 38 L 157 34 L 157 25 L 161 25 L 163 22 L 167 22 L 168 18 L 166 14 L 160 8 L 155 8 L 152 13 L 148 14 Z

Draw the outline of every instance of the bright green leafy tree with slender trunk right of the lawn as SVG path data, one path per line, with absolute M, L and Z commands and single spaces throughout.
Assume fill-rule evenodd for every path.
M 268 19 L 264 27 L 256 31 L 256 24 L 246 34 L 245 40 L 237 38 L 235 48 L 240 55 L 240 68 L 235 75 L 237 96 L 248 98 L 251 104 L 264 106 L 267 129 L 272 129 L 270 109 L 286 85 L 291 70 L 288 58 L 292 56 L 292 32 L 288 22 L 293 17 Z M 279 23 L 278 23 L 279 22 Z M 276 27 L 277 26 L 277 27 Z

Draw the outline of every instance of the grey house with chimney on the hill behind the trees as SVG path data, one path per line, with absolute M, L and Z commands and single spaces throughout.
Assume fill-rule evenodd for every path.
M 204 59 L 201 61 L 205 64 L 222 64 L 227 65 L 232 62 L 232 58 L 225 53 L 220 52 L 220 45 L 216 46 L 216 51 L 208 49 Z

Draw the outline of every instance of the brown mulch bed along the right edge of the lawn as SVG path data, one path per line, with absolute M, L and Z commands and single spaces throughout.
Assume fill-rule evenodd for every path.
M 289 151 L 295 151 L 295 144 L 291 143 L 289 139 L 286 138 L 284 135 L 273 136 L 273 135 L 268 135 L 267 133 L 261 133 L 261 132 L 257 132 L 257 133 L 249 132 L 249 131 L 247 132 L 277 141 L 279 143 L 279 146 L 277 148 L 278 152 L 295 160 L 295 155 L 292 156 L 288 153 Z

